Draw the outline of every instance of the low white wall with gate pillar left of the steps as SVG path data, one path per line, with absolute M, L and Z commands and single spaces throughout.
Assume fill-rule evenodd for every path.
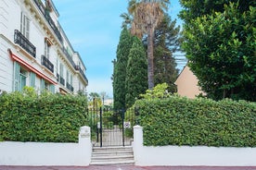
M 89 127 L 80 128 L 79 143 L 0 142 L 0 165 L 87 166 L 92 144 Z

